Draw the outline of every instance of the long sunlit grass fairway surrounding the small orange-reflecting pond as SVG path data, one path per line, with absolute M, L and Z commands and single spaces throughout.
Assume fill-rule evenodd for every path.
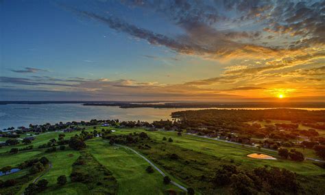
M 141 132 L 141 129 L 118 129 L 116 134 L 128 134 L 134 132 L 134 130 Z M 321 175 L 325 174 L 325 170 L 314 165 L 311 161 L 304 162 L 295 162 L 280 159 L 278 157 L 277 152 L 258 150 L 258 148 L 248 148 L 245 146 L 239 146 L 231 143 L 225 143 L 222 141 L 205 139 L 202 137 L 194 137 L 193 135 L 185 135 L 178 136 L 176 132 L 165 132 L 165 131 L 154 131 L 154 132 L 146 132 L 149 137 L 156 140 L 162 140 L 163 137 L 171 137 L 173 139 L 172 145 L 178 146 L 180 148 L 193 150 L 195 152 L 200 152 L 203 154 L 208 154 L 213 157 L 217 157 L 219 159 L 223 159 L 225 161 L 234 161 L 235 163 L 251 169 L 258 168 L 264 165 L 272 165 L 278 168 L 286 168 L 287 170 L 291 170 L 292 172 L 296 172 L 298 174 L 303 175 Z M 254 152 L 261 152 L 263 154 L 269 154 L 273 157 L 276 157 L 278 160 L 269 161 L 263 159 L 252 159 L 250 157 L 246 157 L 247 154 L 251 154 Z

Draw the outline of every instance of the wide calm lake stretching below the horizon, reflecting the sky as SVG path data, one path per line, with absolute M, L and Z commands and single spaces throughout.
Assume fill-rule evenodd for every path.
M 176 111 L 197 109 L 200 108 L 119 108 L 117 106 L 82 106 L 82 104 L 5 104 L 0 105 L 0 129 L 11 126 L 45 124 L 47 122 L 55 124 L 58 122 L 89 121 L 91 119 L 119 119 L 121 121 L 139 119 L 153 122 L 154 120 L 171 119 L 171 113 Z M 324 110 L 324 108 L 304 109 Z

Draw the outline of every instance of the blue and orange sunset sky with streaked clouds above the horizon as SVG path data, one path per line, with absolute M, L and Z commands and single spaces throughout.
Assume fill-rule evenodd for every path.
M 325 101 L 325 1 L 4 0 L 0 23 L 0 100 Z

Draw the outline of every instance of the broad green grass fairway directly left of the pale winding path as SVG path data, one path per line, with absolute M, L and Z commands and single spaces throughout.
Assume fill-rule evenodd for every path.
M 167 189 L 178 188 L 164 185 L 163 176 L 156 170 L 145 171 L 149 163 L 125 148 L 110 146 L 103 139 L 87 141 L 87 150 L 104 165 L 119 183 L 118 194 L 165 194 Z

